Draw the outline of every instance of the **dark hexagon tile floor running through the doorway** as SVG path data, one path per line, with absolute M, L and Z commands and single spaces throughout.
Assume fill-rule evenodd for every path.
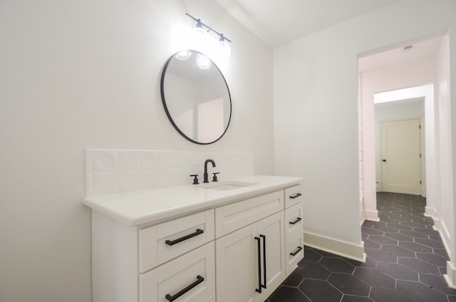
M 377 193 L 380 222 L 361 227 L 366 263 L 304 246 L 299 267 L 266 302 L 456 302 L 426 199 Z

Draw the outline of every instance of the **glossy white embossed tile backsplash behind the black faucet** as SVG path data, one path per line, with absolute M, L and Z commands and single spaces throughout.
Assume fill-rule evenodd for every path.
M 191 174 L 202 182 L 204 161 L 219 180 L 254 174 L 253 152 L 185 152 L 165 150 L 86 150 L 86 196 L 191 184 Z

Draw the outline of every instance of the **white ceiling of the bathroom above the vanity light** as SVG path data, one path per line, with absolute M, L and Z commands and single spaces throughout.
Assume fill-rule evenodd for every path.
M 271 47 L 399 0 L 215 0 Z

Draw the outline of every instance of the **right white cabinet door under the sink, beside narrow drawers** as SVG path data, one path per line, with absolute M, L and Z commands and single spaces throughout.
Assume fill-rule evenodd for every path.
M 284 212 L 281 211 L 258 222 L 258 234 L 261 238 L 262 284 L 265 283 L 266 276 L 266 288 L 263 288 L 261 295 L 269 296 L 285 277 Z

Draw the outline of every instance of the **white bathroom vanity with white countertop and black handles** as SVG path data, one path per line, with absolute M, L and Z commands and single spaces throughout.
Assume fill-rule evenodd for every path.
M 304 257 L 304 179 L 88 197 L 93 302 L 264 301 Z

